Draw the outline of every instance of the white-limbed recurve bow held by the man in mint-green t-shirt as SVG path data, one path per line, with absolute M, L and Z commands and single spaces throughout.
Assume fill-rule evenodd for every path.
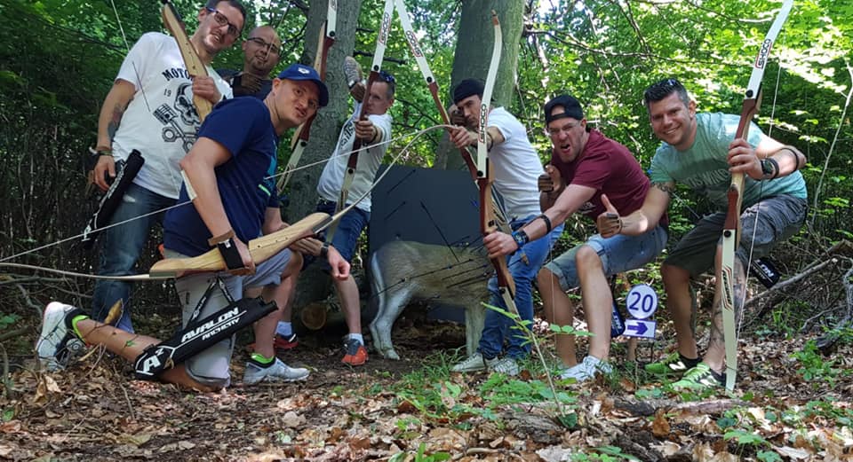
M 761 42 L 761 48 L 753 62 L 753 73 L 750 75 L 746 86 L 744 103 L 741 109 L 740 121 L 737 124 L 735 139 L 746 139 L 749 133 L 749 123 L 755 114 L 758 114 L 761 106 L 761 80 L 767 66 L 770 50 L 773 43 L 791 12 L 793 0 L 785 0 L 782 9 L 770 26 L 767 35 Z M 731 176 L 731 184 L 727 194 L 729 209 L 722 231 L 722 255 L 720 279 L 717 283 L 717 293 L 720 299 L 722 311 L 723 335 L 725 337 L 726 350 L 726 388 L 735 388 L 737 377 L 737 323 L 735 317 L 735 253 L 740 243 L 740 207 L 743 200 L 744 174 L 734 173 Z M 746 269 L 744 269 L 746 273 Z M 744 274 L 745 276 L 745 274 Z M 745 281 L 744 281 L 745 282 Z M 743 301 L 741 301 L 743 302 Z

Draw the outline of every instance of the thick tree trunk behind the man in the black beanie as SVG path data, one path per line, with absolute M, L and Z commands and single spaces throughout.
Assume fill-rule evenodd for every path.
M 486 80 L 494 44 L 494 31 L 491 24 L 491 11 L 498 13 L 503 49 L 500 54 L 498 81 L 493 93 L 494 105 L 510 109 L 512 101 L 515 71 L 518 66 L 519 42 L 524 27 L 524 2 L 518 0 L 467 0 L 462 2 L 459 20 L 459 35 L 456 53 L 453 58 L 453 72 L 450 75 L 450 95 L 459 82 L 465 79 Z M 449 100 L 451 100 L 449 98 Z M 445 140 L 446 141 L 446 137 Z M 443 142 L 439 146 L 435 165 L 448 169 L 465 168 L 458 150 Z

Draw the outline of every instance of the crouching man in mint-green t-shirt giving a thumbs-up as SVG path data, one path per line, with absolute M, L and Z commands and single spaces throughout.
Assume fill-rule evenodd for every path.
M 800 230 L 806 216 L 806 184 L 798 171 L 806 157 L 795 147 L 783 145 L 761 133 L 750 122 L 748 139 L 735 140 L 740 116 L 697 114 L 696 102 L 675 79 L 651 85 L 643 94 L 651 129 L 663 143 L 651 161 L 652 187 L 642 208 L 631 215 L 599 216 L 602 236 L 636 235 L 658 223 L 669 205 L 675 184 L 687 184 L 705 195 L 717 208 L 706 215 L 675 246 L 661 265 L 666 306 L 673 316 L 678 352 L 646 371 L 667 375 L 683 373 L 676 388 L 721 386 L 725 363 L 722 313 L 714 301 L 711 339 L 705 356 L 698 355 L 690 322 L 693 295 L 690 278 L 714 268 L 720 278 L 721 235 L 732 173 L 744 174 L 742 231 L 735 259 L 735 312 L 739 318 L 744 301 L 745 268 L 752 258 L 769 254 L 780 241 Z

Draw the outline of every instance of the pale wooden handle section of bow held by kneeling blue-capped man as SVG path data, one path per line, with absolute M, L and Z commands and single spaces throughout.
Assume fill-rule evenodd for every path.
M 311 214 L 283 230 L 251 239 L 246 247 L 249 247 L 249 254 L 251 254 L 253 262 L 256 264 L 264 262 L 283 249 L 290 247 L 297 240 L 322 231 L 325 226 L 331 223 L 331 220 L 332 218 L 328 214 Z M 161 260 L 154 263 L 148 273 L 153 277 L 179 278 L 187 274 L 224 270 L 227 270 L 225 260 L 219 254 L 219 249 L 214 248 L 194 257 Z

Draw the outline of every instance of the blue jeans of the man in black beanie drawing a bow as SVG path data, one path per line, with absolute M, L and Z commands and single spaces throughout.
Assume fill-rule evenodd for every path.
M 530 215 L 510 224 L 513 230 L 517 230 L 535 216 Z M 562 224 L 551 230 L 548 235 L 531 240 L 521 250 L 506 256 L 506 265 L 515 281 L 515 308 L 518 309 L 518 315 L 523 321 L 533 321 L 533 280 L 536 279 L 539 268 L 546 261 L 551 247 L 554 247 L 554 243 L 561 234 Z M 508 310 L 498 292 L 497 277 L 489 279 L 489 292 L 491 305 Z M 482 353 L 482 356 L 493 358 L 503 351 L 505 339 L 507 341 L 506 356 L 521 359 L 530 354 L 530 341 L 522 331 L 515 328 L 514 320 L 493 309 L 486 309 L 486 319 L 477 350 Z

